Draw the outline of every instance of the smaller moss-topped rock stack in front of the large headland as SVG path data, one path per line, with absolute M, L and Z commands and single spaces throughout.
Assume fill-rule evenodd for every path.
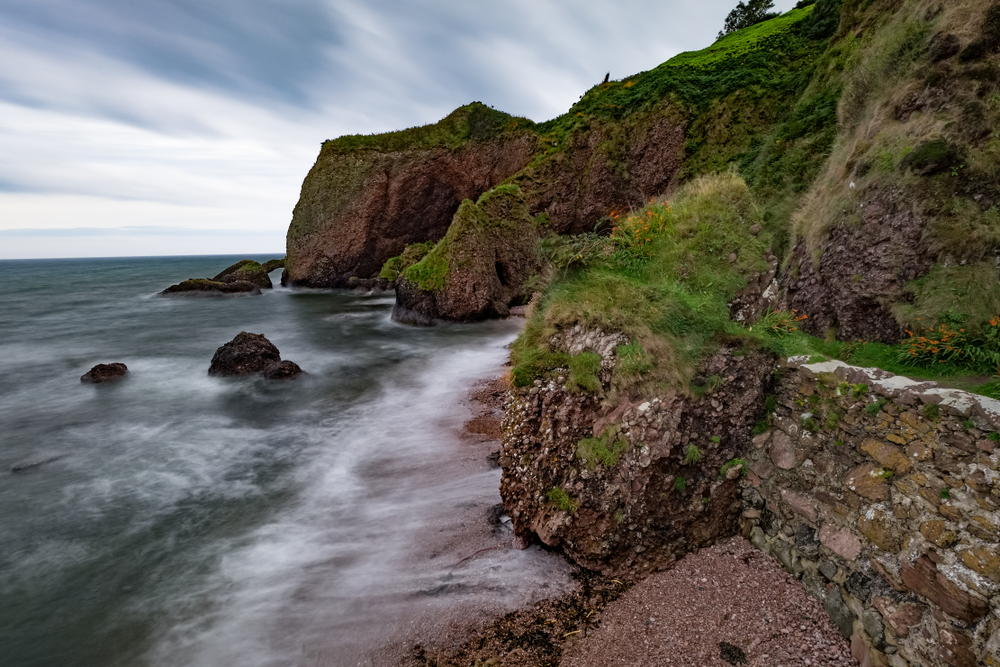
M 521 191 L 505 185 L 462 202 L 448 234 L 396 281 L 392 317 L 406 324 L 507 317 L 527 301 L 538 232 Z

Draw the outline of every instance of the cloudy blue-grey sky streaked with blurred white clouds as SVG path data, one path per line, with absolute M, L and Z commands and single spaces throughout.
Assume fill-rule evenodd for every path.
M 547 120 L 735 4 L 0 0 L 0 259 L 281 256 L 324 140 Z

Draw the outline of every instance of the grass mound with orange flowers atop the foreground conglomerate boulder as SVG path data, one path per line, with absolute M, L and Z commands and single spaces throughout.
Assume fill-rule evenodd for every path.
M 746 183 L 726 172 L 695 179 L 671 204 L 619 216 L 603 253 L 553 280 L 513 346 L 515 383 L 525 386 L 565 362 L 549 349 L 557 331 L 582 323 L 632 342 L 612 373 L 612 396 L 678 387 L 729 326 L 728 301 L 763 270 L 768 238 L 752 236 L 758 209 Z M 622 349 L 624 348 L 624 349 Z

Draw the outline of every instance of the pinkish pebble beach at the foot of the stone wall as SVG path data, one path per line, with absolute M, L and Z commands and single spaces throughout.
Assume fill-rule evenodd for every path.
M 728 664 L 858 663 L 820 603 L 777 561 L 739 537 L 636 584 L 607 606 L 598 628 L 564 649 L 560 662 L 562 667 Z

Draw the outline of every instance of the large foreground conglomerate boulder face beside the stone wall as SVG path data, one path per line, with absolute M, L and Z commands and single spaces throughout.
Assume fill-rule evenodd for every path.
M 607 383 L 625 342 L 620 334 L 573 330 L 553 347 L 600 354 Z M 772 368 L 768 354 L 723 348 L 701 368 L 717 380 L 705 395 L 668 392 L 615 405 L 573 393 L 565 372 L 513 389 L 500 492 L 515 533 L 628 577 L 733 534 L 740 505 L 733 459 L 749 446 Z

